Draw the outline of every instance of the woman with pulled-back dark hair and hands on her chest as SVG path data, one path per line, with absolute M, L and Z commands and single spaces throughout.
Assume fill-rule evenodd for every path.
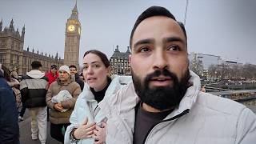
M 110 76 L 110 62 L 98 50 L 86 51 L 83 57 L 85 86 L 74 106 L 70 126 L 65 134 L 65 143 L 105 143 L 106 115 L 98 103 L 115 94 L 130 77 Z

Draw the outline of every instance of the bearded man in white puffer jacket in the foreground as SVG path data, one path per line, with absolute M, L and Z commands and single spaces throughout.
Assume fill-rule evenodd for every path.
M 99 104 L 108 118 L 106 143 L 256 142 L 251 110 L 200 91 L 200 78 L 188 68 L 185 27 L 169 10 L 144 11 L 130 48 L 133 82 Z

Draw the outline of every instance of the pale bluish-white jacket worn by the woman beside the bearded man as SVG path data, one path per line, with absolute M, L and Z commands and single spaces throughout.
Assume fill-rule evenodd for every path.
M 110 86 L 107 88 L 104 99 L 112 97 L 118 90 L 131 82 L 130 76 L 117 76 L 111 77 L 112 81 Z M 100 102 L 99 102 L 100 103 Z M 106 115 L 102 114 L 102 109 L 98 106 L 98 102 L 94 98 L 94 94 L 90 91 L 90 86 L 85 83 L 82 93 L 78 96 L 77 102 L 74 106 L 74 111 L 70 116 L 70 126 L 67 127 L 65 133 L 65 144 L 70 144 L 70 132 L 74 128 L 78 128 L 85 121 L 86 117 L 88 122 L 101 123 L 106 119 Z M 78 141 L 78 144 L 93 144 L 93 138 L 82 139 Z

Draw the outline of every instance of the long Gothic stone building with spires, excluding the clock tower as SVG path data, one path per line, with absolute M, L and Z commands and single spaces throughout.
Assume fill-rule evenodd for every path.
M 14 20 L 10 22 L 9 28 L 5 27 L 2 30 L 2 20 L 0 22 L 0 63 L 7 66 L 9 70 L 16 70 L 19 75 L 26 74 L 31 70 L 31 62 L 37 60 L 42 62 L 42 70 L 50 69 L 50 66 L 55 64 L 57 66 L 63 65 L 63 60 L 55 58 L 50 54 L 39 54 L 30 52 L 29 47 L 23 50 L 25 38 L 25 26 L 22 28 L 22 34 L 19 33 L 18 28 L 14 30 Z

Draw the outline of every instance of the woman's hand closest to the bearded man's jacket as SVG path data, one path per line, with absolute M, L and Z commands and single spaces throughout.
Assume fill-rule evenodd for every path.
M 94 134 L 94 144 L 103 144 L 106 142 L 106 122 L 102 122 L 102 127 L 96 125 Z

